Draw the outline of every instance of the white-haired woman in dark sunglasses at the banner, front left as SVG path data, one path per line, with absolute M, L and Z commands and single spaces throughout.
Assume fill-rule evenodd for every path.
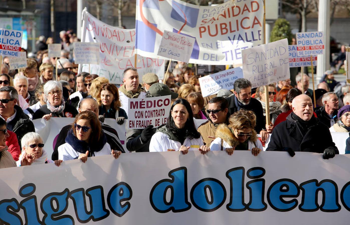
M 19 160 L 16 161 L 17 166 L 29 166 L 45 163 L 55 163 L 61 165 L 62 160 L 52 161 L 48 158 L 46 151 L 43 149 L 43 139 L 38 133 L 28 132 L 21 139 L 22 152 Z

